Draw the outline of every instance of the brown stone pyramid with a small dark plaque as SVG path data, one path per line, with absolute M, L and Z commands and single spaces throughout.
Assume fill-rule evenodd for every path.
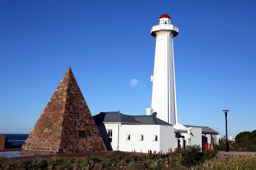
M 107 151 L 70 67 L 21 150 L 39 153 Z

